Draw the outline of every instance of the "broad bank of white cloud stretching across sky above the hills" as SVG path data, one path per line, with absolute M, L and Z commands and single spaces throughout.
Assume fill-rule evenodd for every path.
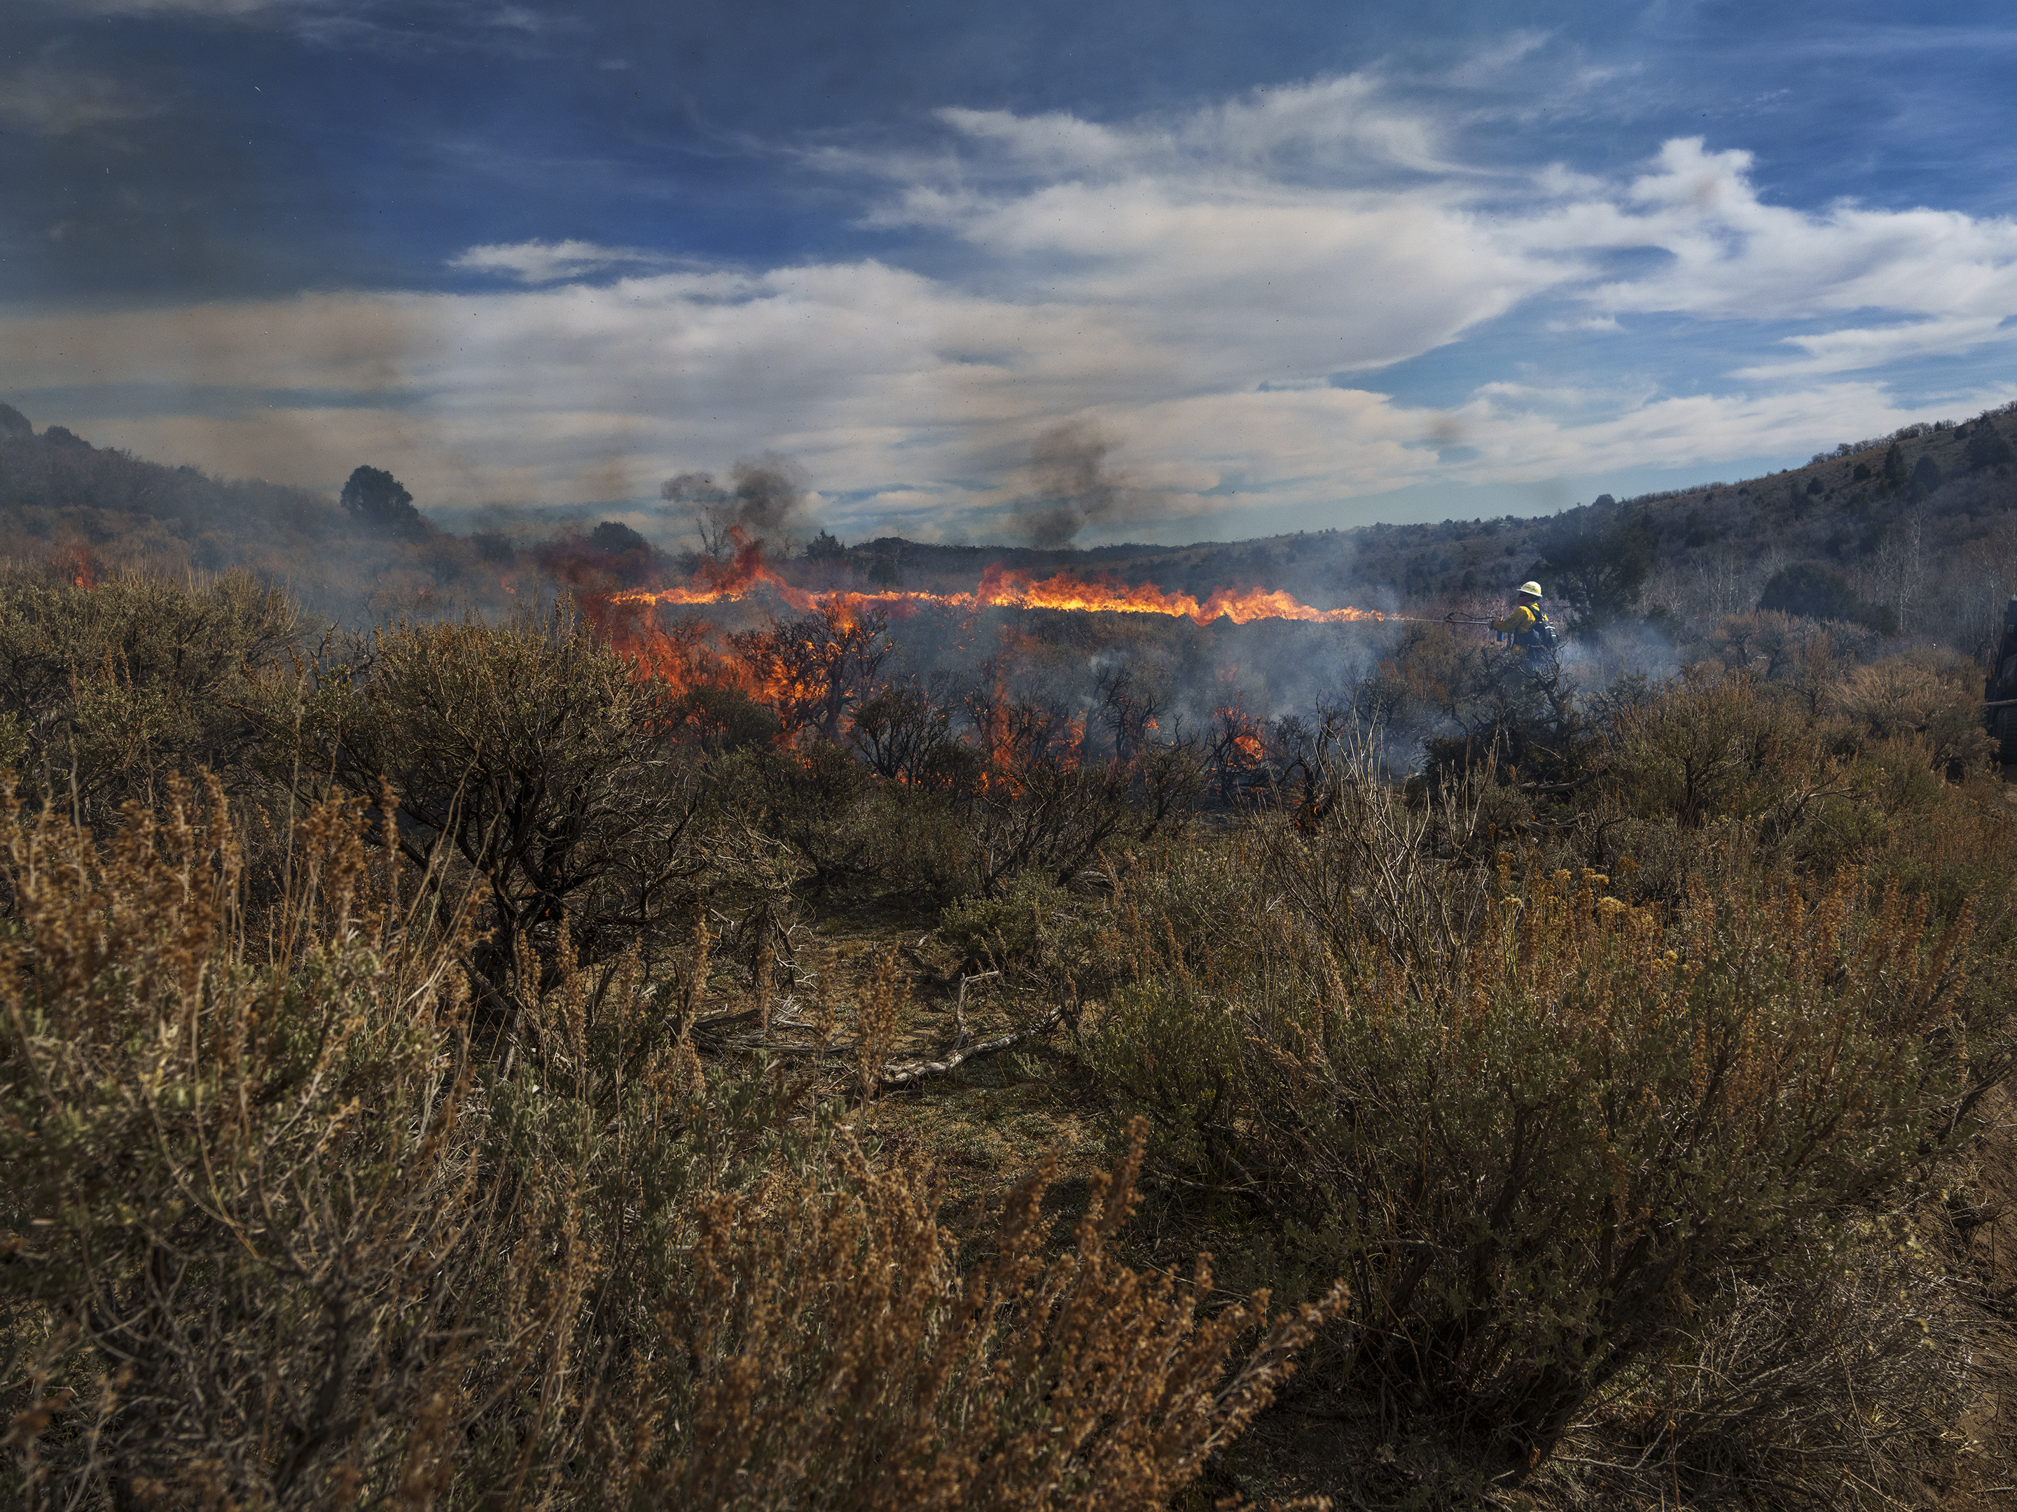
M 1622 179 L 1478 173 L 1370 75 L 1142 121 L 942 119 L 946 151 L 807 159 L 877 173 L 863 220 L 934 238 L 934 276 L 474 246 L 452 266 L 518 286 L 0 317 L 0 387 L 278 391 L 242 419 L 87 433 L 323 486 L 369 460 L 424 504 L 651 496 L 676 470 L 779 450 L 849 500 L 831 506 L 849 534 L 984 522 L 1031 439 L 1085 417 L 1170 500 L 1172 530 L 1226 534 L 1253 506 L 1412 484 L 1805 456 L 1914 417 L 1886 363 L 2001 341 L 2017 317 L 2007 220 L 1773 206 L 1745 153 L 1694 139 Z M 1614 369 L 1644 351 L 1644 371 L 1509 365 L 1440 407 L 1380 391 L 1394 363 L 1529 310 L 1537 337 L 1587 341 Z M 1620 331 L 1620 314 L 1714 323 L 1745 365 L 1686 373 L 1727 391 L 1676 395 L 1678 373 L 1630 341 L 1652 321 Z M 299 389 L 355 397 L 309 411 Z

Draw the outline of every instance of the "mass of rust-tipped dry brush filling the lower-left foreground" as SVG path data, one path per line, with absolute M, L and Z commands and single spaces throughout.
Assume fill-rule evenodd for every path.
M 706 1075 L 706 933 L 547 980 L 470 1054 L 460 909 L 341 802 L 248 915 L 222 798 L 12 837 L 0 1492 L 20 1506 L 1162 1506 L 1341 1308 L 1200 1316 L 1055 1258 L 1047 1175 L 960 1270 L 930 1183 L 803 1083 Z M 426 881 L 426 879 L 424 879 Z M 403 901 L 411 899 L 411 901 Z

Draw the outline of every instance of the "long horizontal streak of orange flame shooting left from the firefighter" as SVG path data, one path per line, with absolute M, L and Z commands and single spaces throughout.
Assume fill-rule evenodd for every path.
M 883 593 L 805 593 L 795 589 L 762 560 L 762 542 L 736 540 L 736 554 L 726 562 L 702 562 L 694 583 L 684 589 L 637 589 L 611 595 L 615 603 L 637 605 L 710 605 L 742 599 L 766 587 L 801 613 L 839 609 L 847 615 L 875 611 L 904 617 L 916 609 L 1075 609 L 1109 615 L 1170 615 L 1196 625 L 1230 619 L 1247 625 L 1257 619 L 1297 619 L 1313 625 L 1382 623 L 1390 615 L 1376 609 L 1315 609 L 1281 589 L 1218 589 L 1202 603 L 1190 593 L 1168 593 L 1154 583 L 1121 583 L 1119 579 L 1085 579 L 1075 573 L 1053 573 L 1033 579 L 1008 566 L 990 566 L 972 593 L 922 593 L 889 589 Z

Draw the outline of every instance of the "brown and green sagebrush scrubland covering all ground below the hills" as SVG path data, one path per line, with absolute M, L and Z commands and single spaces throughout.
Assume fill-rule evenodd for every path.
M 1983 647 L 1618 560 L 1541 673 L 16 569 L 4 1496 L 2007 1504 Z

